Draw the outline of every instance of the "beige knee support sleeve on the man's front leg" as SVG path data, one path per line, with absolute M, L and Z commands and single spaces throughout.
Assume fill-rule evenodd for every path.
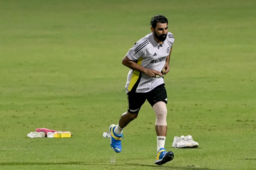
M 153 105 L 153 109 L 156 114 L 156 125 L 167 126 L 166 117 L 167 117 L 167 108 L 164 102 L 157 102 Z

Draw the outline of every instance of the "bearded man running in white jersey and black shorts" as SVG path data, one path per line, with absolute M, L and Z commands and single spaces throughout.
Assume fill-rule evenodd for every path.
M 162 165 L 171 161 L 173 152 L 164 148 L 167 132 L 167 93 L 163 74 L 170 70 L 169 61 L 174 36 L 168 32 L 168 20 L 163 15 L 151 19 L 152 33 L 136 42 L 127 52 L 122 64 L 129 67 L 126 93 L 128 111 L 122 114 L 117 125 L 110 125 L 110 145 L 115 152 L 121 152 L 123 128 L 137 118 L 139 110 L 147 101 L 156 115 L 157 154 L 155 164 Z

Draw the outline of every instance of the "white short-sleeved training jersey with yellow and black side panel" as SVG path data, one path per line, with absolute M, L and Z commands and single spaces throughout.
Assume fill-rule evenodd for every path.
M 150 33 L 136 42 L 126 55 L 130 60 L 142 67 L 161 72 L 173 43 L 174 36 L 172 33 L 168 32 L 163 44 L 157 43 L 153 33 Z M 163 83 L 164 79 L 162 77 L 152 78 L 144 73 L 130 69 L 125 89 L 127 93 L 129 91 L 146 93 Z

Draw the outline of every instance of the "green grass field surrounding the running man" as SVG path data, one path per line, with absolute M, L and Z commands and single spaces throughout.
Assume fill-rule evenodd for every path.
M 0 169 L 256 169 L 256 1 L 0 1 Z M 175 36 L 157 166 L 146 102 L 123 151 L 102 133 L 127 109 L 128 49 L 163 14 Z M 72 138 L 28 138 L 35 128 Z M 196 149 L 172 148 L 191 134 Z M 193 167 L 191 165 L 198 165 Z

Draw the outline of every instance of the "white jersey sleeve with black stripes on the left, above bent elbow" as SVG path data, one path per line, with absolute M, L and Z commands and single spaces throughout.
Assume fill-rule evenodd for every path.
M 129 49 L 126 56 L 132 61 L 138 60 L 139 58 L 143 57 L 145 47 L 148 44 L 149 44 L 148 40 L 140 40 L 140 41 L 136 42 L 133 45 L 133 47 Z

